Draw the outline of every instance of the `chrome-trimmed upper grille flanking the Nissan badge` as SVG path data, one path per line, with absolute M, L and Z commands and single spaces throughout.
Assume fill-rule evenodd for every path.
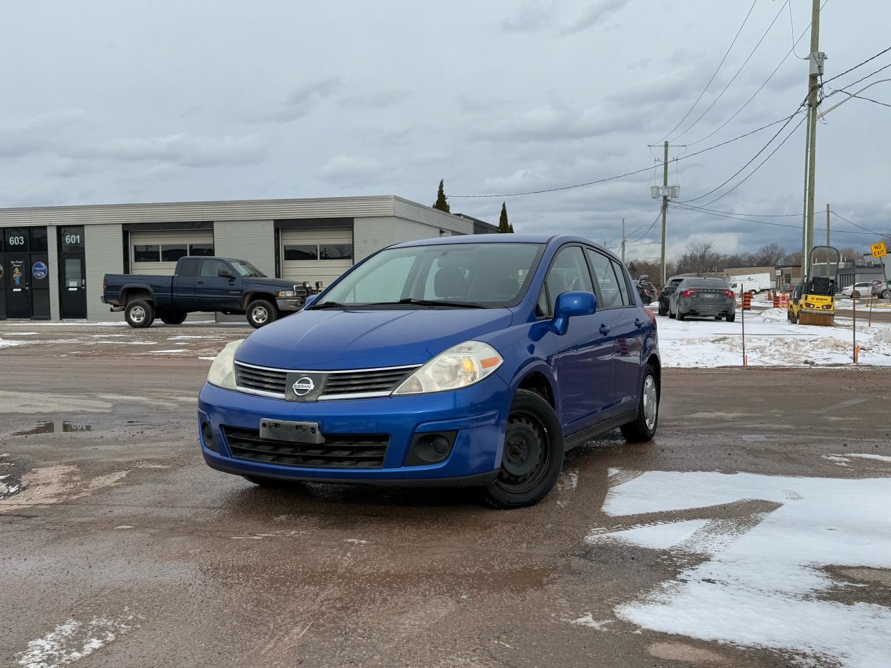
M 245 392 L 285 398 L 288 395 L 289 375 L 306 373 L 321 380 L 322 389 L 318 401 L 362 399 L 389 395 L 420 366 L 415 364 L 350 371 L 294 371 L 236 362 L 235 385 Z

